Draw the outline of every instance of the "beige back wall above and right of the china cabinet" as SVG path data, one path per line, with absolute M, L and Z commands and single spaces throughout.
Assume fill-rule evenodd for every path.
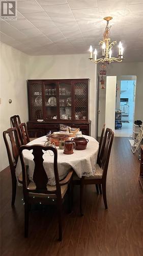
M 90 78 L 91 135 L 95 137 L 96 65 L 88 54 L 31 56 L 28 79 Z

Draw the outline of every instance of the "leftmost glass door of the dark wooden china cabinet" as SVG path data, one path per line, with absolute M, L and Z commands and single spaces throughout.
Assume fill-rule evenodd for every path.
M 42 82 L 31 83 L 31 119 L 43 119 Z

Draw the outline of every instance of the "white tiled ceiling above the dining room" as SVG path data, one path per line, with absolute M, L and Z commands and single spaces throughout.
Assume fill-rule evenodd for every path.
M 126 61 L 142 61 L 143 0 L 17 0 L 17 20 L 0 21 L 0 39 L 30 55 L 88 53 L 92 45 L 100 56 L 105 16 Z

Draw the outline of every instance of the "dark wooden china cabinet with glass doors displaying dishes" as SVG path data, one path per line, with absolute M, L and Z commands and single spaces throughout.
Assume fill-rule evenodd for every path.
M 27 80 L 28 130 L 60 130 L 60 123 L 90 135 L 89 79 Z M 43 119 L 42 122 L 37 120 Z

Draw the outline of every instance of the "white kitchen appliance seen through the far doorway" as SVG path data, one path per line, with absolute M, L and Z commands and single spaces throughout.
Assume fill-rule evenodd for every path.
M 129 99 L 121 98 L 120 99 L 120 110 L 122 111 L 122 122 L 129 122 Z

